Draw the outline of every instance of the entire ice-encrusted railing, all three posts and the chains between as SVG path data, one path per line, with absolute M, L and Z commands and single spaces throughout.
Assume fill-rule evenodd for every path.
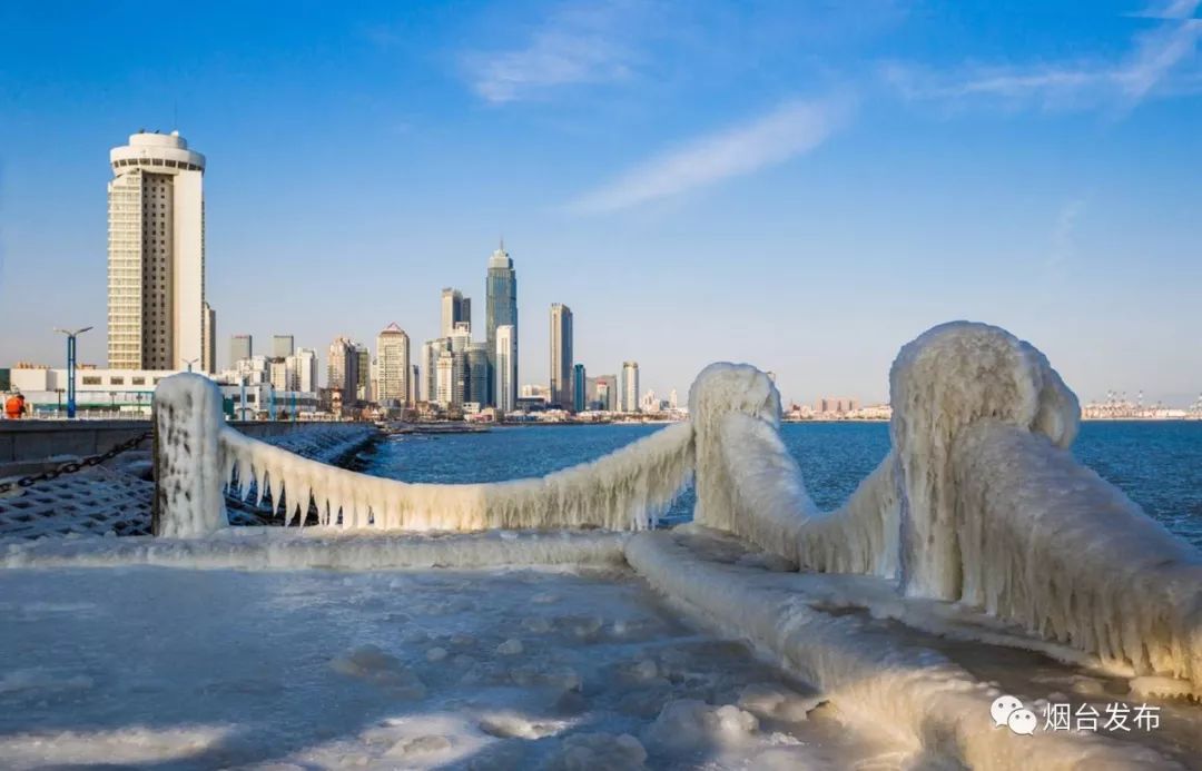
M 208 381 L 178 375 L 156 399 L 156 533 L 224 526 L 214 507 L 234 483 L 290 522 L 315 506 L 322 528 L 641 530 L 694 476 L 697 524 L 802 570 L 877 576 L 1202 692 L 1202 556 L 1067 452 L 1079 410 L 1043 354 L 957 322 L 906 345 L 889 384 L 889 454 L 821 512 L 781 441 L 780 396 L 749 365 L 703 370 L 688 423 L 591 464 L 476 485 L 405 484 L 264 446 L 197 408 Z

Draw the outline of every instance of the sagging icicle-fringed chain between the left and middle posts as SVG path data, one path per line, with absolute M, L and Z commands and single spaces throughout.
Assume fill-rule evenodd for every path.
M 221 432 L 225 478 L 245 497 L 270 494 L 300 521 L 309 502 L 341 528 L 470 531 L 528 527 L 641 530 L 672 503 L 692 473 L 692 429 L 656 431 L 605 458 L 535 479 L 409 484 L 311 461 L 233 430 Z

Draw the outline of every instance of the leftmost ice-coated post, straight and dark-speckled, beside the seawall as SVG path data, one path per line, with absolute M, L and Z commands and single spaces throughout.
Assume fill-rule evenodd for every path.
M 202 375 L 165 377 L 154 398 L 155 536 L 196 538 L 226 527 L 221 390 Z

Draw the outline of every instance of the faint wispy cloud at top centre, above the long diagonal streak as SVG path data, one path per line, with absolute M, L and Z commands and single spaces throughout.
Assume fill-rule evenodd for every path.
M 466 55 L 472 88 L 484 100 L 502 103 L 555 86 L 623 79 L 637 58 L 625 42 L 632 13 L 620 0 L 560 8 L 520 48 Z

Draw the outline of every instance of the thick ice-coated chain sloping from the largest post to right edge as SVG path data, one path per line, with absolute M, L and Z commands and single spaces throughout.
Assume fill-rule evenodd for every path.
M 1040 434 L 962 431 L 956 599 L 1202 695 L 1202 555 Z

